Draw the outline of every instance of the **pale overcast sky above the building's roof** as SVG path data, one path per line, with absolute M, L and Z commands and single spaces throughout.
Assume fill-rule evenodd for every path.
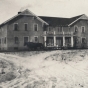
M 0 0 L 0 23 L 25 9 L 38 16 L 88 15 L 88 0 Z

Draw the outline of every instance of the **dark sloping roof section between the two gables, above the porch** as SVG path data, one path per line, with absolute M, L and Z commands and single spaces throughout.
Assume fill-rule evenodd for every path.
M 72 18 L 45 17 L 45 16 L 39 16 L 39 17 L 44 21 L 46 21 L 50 26 L 70 26 L 83 15 L 84 14 Z

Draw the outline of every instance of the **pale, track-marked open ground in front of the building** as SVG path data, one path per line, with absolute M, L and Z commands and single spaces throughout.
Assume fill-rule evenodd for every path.
M 0 88 L 88 88 L 87 50 L 0 53 L 0 60 L 16 76 Z

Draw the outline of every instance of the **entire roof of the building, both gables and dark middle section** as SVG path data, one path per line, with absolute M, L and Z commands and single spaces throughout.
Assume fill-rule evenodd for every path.
M 74 24 L 75 22 L 77 22 L 80 19 L 88 20 L 88 17 L 85 14 L 75 16 L 72 18 L 48 17 L 48 16 L 37 16 L 34 13 L 32 13 L 31 11 L 29 11 L 28 9 L 26 9 L 23 12 L 10 18 L 9 20 L 3 22 L 0 26 L 3 26 L 4 24 L 10 22 L 11 20 L 13 20 L 19 16 L 24 16 L 24 15 L 34 16 L 42 23 L 45 23 L 46 25 L 50 25 L 50 26 L 71 26 L 72 24 Z

